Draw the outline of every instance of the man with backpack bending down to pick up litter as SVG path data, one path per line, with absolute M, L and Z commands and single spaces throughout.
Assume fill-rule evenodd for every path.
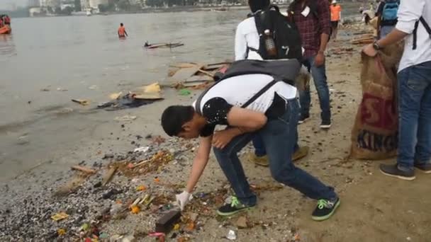
M 231 202 L 218 208 L 217 213 L 232 216 L 255 207 L 257 197 L 250 190 L 237 153 L 259 134 L 267 148 L 272 177 L 318 200 L 312 219 L 321 221 L 334 214 L 340 205 L 334 189 L 294 166 L 291 160 L 298 141 L 299 117 L 297 90 L 291 80 L 300 68 L 296 59 L 234 62 L 223 78 L 192 105 L 173 105 L 164 110 L 162 127 L 169 136 L 201 137 L 186 189 L 176 196 L 181 209 L 191 199 L 208 163 L 211 146 L 235 192 Z M 228 127 L 215 131 L 217 125 Z

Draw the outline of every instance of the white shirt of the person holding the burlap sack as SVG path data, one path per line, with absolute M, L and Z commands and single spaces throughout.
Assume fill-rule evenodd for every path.
M 407 67 L 431 61 L 431 38 L 422 23 L 418 25 L 417 48 L 413 50 L 413 30 L 420 16 L 431 26 L 430 0 L 401 0 L 398 8 L 398 23 L 396 28 L 410 35 L 405 38 L 403 57 L 398 71 Z

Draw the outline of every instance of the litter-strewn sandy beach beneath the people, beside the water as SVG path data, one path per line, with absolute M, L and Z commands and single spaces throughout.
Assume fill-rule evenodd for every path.
M 355 24 L 342 28 L 337 42 L 330 42 L 327 74 L 332 106 L 332 127 L 319 128 L 318 96 L 312 88 L 311 118 L 298 126 L 300 144 L 310 154 L 296 165 L 332 185 L 339 193 L 341 206 L 328 221 L 312 221 L 315 201 L 291 188 L 277 184 L 269 168 L 254 166 L 245 159 L 250 145 L 241 152 L 242 166 L 257 192 L 255 209 L 228 219 L 220 219 L 215 209 L 229 195 L 228 183 L 211 154 L 210 162 L 194 191 L 194 200 L 183 212 L 179 228 L 167 234 L 166 241 L 228 241 L 232 230 L 236 241 L 430 241 L 431 206 L 427 175 L 418 173 L 413 182 L 388 178 L 379 173 L 379 163 L 345 159 L 350 149 L 350 132 L 362 98 L 359 81 L 361 45 L 351 45 L 354 33 L 371 33 L 371 27 Z M 165 68 L 165 73 L 168 69 Z M 311 85 L 313 86 L 313 84 Z M 165 98 L 140 108 L 101 112 L 77 105 L 73 111 L 63 107 L 45 110 L 51 117 L 81 125 L 89 135 L 59 135 L 53 147 L 42 149 L 44 159 L 24 169 L 2 171 L 0 181 L 0 241 L 85 241 L 99 234 L 99 241 L 155 241 L 148 236 L 155 221 L 171 209 L 174 195 L 181 192 L 188 178 L 196 141 L 167 137 L 159 125 L 162 110 L 172 104 L 189 104 L 201 90 L 179 96 L 173 88 L 163 88 Z M 136 116 L 118 122 L 114 117 Z M 31 125 L 23 123 L 22 126 Z M 16 127 L 7 127 L 14 132 Z M 34 132 L 50 135 L 62 132 L 39 127 Z M 78 134 L 76 134 L 78 137 Z M 25 136 L 25 135 L 24 135 Z M 160 137 L 159 137 L 160 136 Z M 21 142 L 26 145 L 26 138 Z M 51 143 L 50 143 L 51 144 Z M 148 147 L 135 153 L 138 147 Z M 3 151 L 6 152 L 6 151 Z M 42 156 L 42 155 L 41 155 Z M 33 159 L 30 153 L 23 159 Z M 155 158 L 156 157 L 156 158 Z M 129 171 L 130 163 L 151 162 Z M 4 161 L 8 162 L 8 161 Z M 72 171 L 79 165 L 95 174 Z M 116 173 L 106 185 L 108 170 Z M 137 198 L 152 195 L 154 200 L 139 212 L 130 211 Z M 52 215 L 68 217 L 54 221 Z M 196 218 L 195 218 L 196 217 Z M 245 217 L 244 223 L 238 220 Z M 85 225 L 86 224 L 86 225 Z M 96 231 L 97 230 L 97 231 Z M 123 237 L 121 237 L 123 236 Z

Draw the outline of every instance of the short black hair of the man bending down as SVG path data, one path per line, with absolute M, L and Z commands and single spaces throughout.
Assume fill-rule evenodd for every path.
M 169 136 L 177 136 L 184 131 L 183 125 L 189 122 L 194 115 L 192 106 L 173 105 L 169 106 L 162 114 L 162 127 Z

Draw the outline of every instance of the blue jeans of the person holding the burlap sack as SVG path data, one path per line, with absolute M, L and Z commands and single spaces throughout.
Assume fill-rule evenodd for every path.
M 431 162 L 431 62 L 398 73 L 398 166 Z

